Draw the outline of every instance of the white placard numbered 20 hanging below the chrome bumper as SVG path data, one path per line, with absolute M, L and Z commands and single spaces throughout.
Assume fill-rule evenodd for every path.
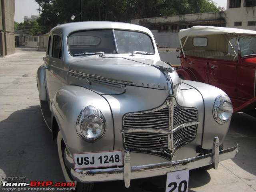
M 167 173 L 165 192 L 188 192 L 189 170 Z

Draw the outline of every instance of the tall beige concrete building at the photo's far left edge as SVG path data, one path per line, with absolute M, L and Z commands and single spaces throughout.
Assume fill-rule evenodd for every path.
M 0 55 L 15 53 L 14 0 L 1 0 L 0 4 Z

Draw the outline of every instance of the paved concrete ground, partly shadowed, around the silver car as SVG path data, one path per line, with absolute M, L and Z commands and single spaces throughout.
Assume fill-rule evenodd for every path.
M 0 58 L 0 179 L 65 182 L 56 142 L 46 128 L 38 100 L 36 71 L 43 64 L 45 52 L 26 49 L 16 49 L 16 54 Z M 256 118 L 234 114 L 224 144 L 228 148 L 238 142 L 238 155 L 221 162 L 218 170 L 190 171 L 188 191 L 256 191 L 255 125 Z M 165 185 L 166 176 L 160 176 L 132 180 L 128 189 L 123 181 L 98 183 L 93 191 L 164 192 Z M 0 186 L 0 191 L 5 189 Z M 20 188 L 12 187 L 12 191 Z

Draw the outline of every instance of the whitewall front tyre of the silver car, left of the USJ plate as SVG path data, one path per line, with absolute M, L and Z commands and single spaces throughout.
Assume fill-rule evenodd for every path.
M 60 165 L 61 165 L 62 172 L 63 172 L 66 182 L 67 183 L 74 182 L 76 184 L 76 186 L 74 187 L 76 192 L 90 192 L 94 186 L 94 183 L 81 183 L 81 182 L 72 180 L 70 170 L 67 168 L 67 166 L 65 165 L 65 162 L 64 162 L 63 154 L 64 154 L 64 150 L 66 148 L 66 145 L 64 143 L 64 140 L 62 138 L 62 134 L 60 131 L 58 132 L 57 143 L 58 143 L 58 154 L 59 154 L 59 158 L 60 158 Z

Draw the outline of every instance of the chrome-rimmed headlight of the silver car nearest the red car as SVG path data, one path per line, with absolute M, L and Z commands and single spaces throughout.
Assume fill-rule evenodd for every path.
M 233 107 L 230 98 L 224 94 L 218 95 L 213 106 L 214 119 L 219 124 L 224 124 L 231 118 L 232 113 Z

